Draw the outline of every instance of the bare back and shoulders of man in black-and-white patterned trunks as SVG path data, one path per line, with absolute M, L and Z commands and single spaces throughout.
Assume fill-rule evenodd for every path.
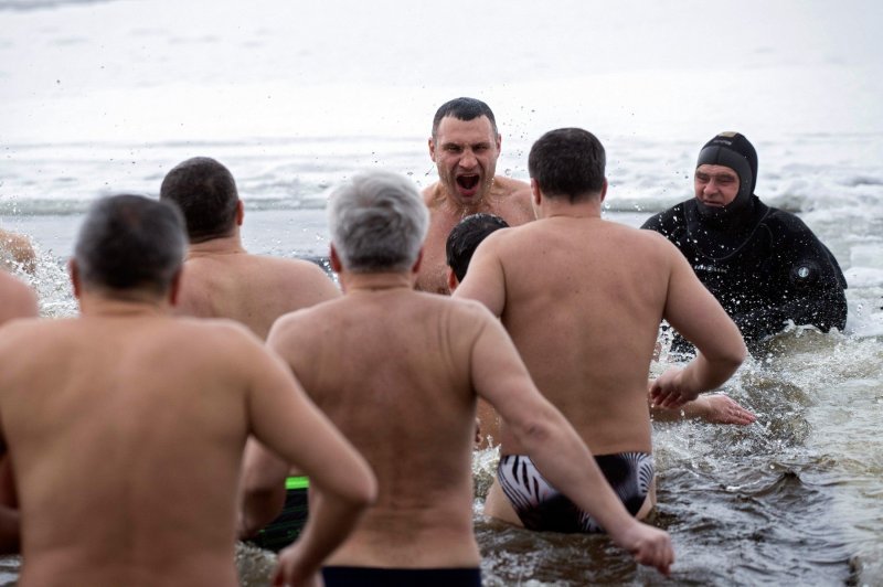
M 689 265 L 655 235 L 599 217 L 499 233 L 456 295 L 501 312 L 538 387 L 593 453 L 651 452 L 647 381 L 659 323 L 685 323 L 693 300 L 709 301 Z M 501 444 L 521 451 L 506 429 Z

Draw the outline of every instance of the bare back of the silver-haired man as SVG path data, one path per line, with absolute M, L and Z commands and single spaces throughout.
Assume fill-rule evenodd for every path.
M 478 565 L 469 353 L 477 317 L 491 317 L 477 310 L 404 282 L 350 292 L 274 329 L 272 348 L 377 477 L 376 504 L 329 564 Z

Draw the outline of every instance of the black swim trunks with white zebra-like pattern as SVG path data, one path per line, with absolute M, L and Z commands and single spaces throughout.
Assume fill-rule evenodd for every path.
M 636 515 L 647 499 L 653 480 L 653 457 L 646 452 L 619 452 L 595 457 L 626 510 Z M 604 532 L 586 512 L 564 497 L 536 470 L 530 457 L 507 455 L 497 467 L 500 487 L 529 530 L 552 532 Z

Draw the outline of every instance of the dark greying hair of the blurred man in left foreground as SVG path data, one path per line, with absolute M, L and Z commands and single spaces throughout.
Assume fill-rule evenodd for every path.
M 84 287 L 111 297 L 169 290 L 187 253 L 184 220 L 174 204 L 111 195 L 89 207 L 74 247 Z

